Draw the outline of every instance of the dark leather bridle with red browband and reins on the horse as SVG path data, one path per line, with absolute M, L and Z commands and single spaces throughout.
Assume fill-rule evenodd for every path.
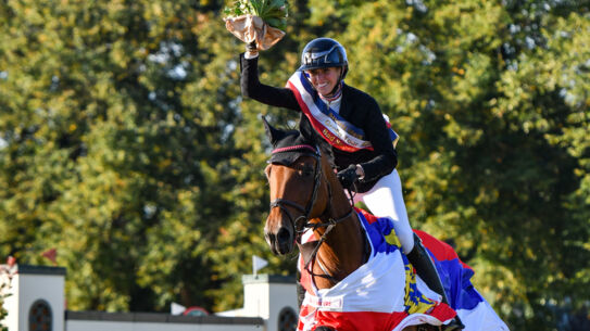
M 280 208 L 287 216 L 289 217 L 289 220 L 291 221 L 291 226 L 293 227 L 293 232 L 296 233 L 296 241 L 298 245 L 300 246 L 301 255 L 303 256 L 303 260 L 305 263 L 305 270 L 310 272 L 311 276 L 317 276 L 327 278 L 334 282 L 338 282 L 338 280 L 329 275 L 321 265 L 321 268 L 324 271 L 324 275 L 318 275 L 313 272 L 313 264 L 315 262 L 315 257 L 317 255 L 317 252 L 319 251 L 319 247 L 322 244 L 326 241 L 328 233 L 342 220 L 350 218 L 350 216 L 354 213 L 354 208 L 351 206 L 350 211 L 342 217 L 339 218 L 331 218 L 328 217 L 327 221 L 321 221 L 321 222 L 310 222 L 310 214 L 313 209 L 313 206 L 316 203 L 317 200 L 317 190 L 319 186 L 322 184 L 322 154 L 317 148 L 313 148 L 309 144 L 299 144 L 293 147 L 287 147 L 287 148 L 279 148 L 275 149 L 272 154 L 275 155 L 277 153 L 284 153 L 284 152 L 293 152 L 293 151 L 312 151 L 301 153 L 301 156 L 312 156 L 315 160 L 315 167 L 314 167 L 314 183 L 312 189 L 312 196 L 307 201 L 307 204 L 305 206 L 302 206 L 301 204 L 293 202 L 291 200 L 278 198 L 271 202 L 271 211 L 275 207 Z M 328 186 L 328 205 L 324 211 L 324 214 L 330 209 L 330 202 L 331 202 L 331 187 L 328 181 L 326 181 L 326 184 Z M 298 209 L 299 212 L 303 213 L 301 216 L 293 219 L 291 213 L 287 208 L 287 206 L 293 207 Z M 319 216 L 319 219 L 322 220 L 324 217 L 323 215 Z M 307 242 L 307 243 L 301 243 L 301 237 L 304 232 L 306 232 L 309 229 L 316 230 L 317 228 L 326 228 L 319 240 Z

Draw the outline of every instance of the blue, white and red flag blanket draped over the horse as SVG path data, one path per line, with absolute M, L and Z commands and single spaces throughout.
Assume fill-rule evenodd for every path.
M 331 289 L 318 290 L 303 270 L 301 282 L 306 290 L 298 330 L 311 331 L 328 326 L 339 331 L 403 330 L 429 323 L 440 326 L 457 314 L 465 330 L 509 331 L 505 323 L 470 283 L 472 268 L 462 263 L 454 250 L 423 231 L 415 231 L 435 259 L 450 306 L 417 277 L 401 253 L 401 245 L 390 218 L 377 218 L 357 209 L 359 218 L 372 245 L 366 264 Z M 317 240 L 313 234 L 306 240 Z M 456 313 L 455 313 L 456 311 Z

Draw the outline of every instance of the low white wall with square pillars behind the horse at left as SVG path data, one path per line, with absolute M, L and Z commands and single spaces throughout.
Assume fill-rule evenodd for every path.
M 12 295 L 4 300 L 9 315 L 2 323 L 9 331 L 29 330 L 29 311 L 38 300 L 51 308 L 52 331 L 277 331 L 284 308 L 298 311 L 294 278 L 272 275 L 244 275 L 243 308 L 226 314 L 65 311 L 65 268 L 22 265 L 17 270 Z

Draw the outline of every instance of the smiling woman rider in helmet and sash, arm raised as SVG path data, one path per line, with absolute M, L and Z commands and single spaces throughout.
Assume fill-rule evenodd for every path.
M 393 143 L 398 137 L 388 129 L 375 99 L 344 84 L 344 48 L 330 38 L 309 42 L 301 54 L 301 66 L 289 78 L 287 88 L 260 82 L 258 56 L 253 42 L 240 56 L 242 94 L 301 113 L 300 130 L 321 136 L 318 141 L 329 143 L 337 177 L 346 189 L 355 191 L 354 202 L 363 201 L 375 216 L 393 220 L 403 253 L 426 284 L 448 303 L 437 269 L 410 227 L 396 170 Z M 460 329 L 459 319 L 445 328 Z

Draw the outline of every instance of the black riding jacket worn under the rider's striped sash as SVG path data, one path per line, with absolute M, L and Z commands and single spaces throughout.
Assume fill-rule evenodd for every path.
M 243 53 L 240 55 L 242 94 L 268 105 L 300 112 L 301 132 L 322 137 L 313 129 L 290 89 L 272 87 L 260 82 L 258 61 L 258 56 L 246 59 Z M 373 97 L 344 84 L 339 114 L 352 125 L 363 129 L 366 139 L 373 145 L 373 151 L 363 149 L 356 152 L 344 152 L 329 145 L 324 139 L 316 139 L 316 141 L 323 141 L 325 145 L 322 148 L 331 150 L 334 163 L 338 170 L 344 169 L 351 164 L 360 164 L 363 167 L 365 177 L 360 180 L 356 191 L 364 193 L 371 190 L 381 177 L 393 171 L 398 165 L 398 155 L 389 137 L 381 110 Z

